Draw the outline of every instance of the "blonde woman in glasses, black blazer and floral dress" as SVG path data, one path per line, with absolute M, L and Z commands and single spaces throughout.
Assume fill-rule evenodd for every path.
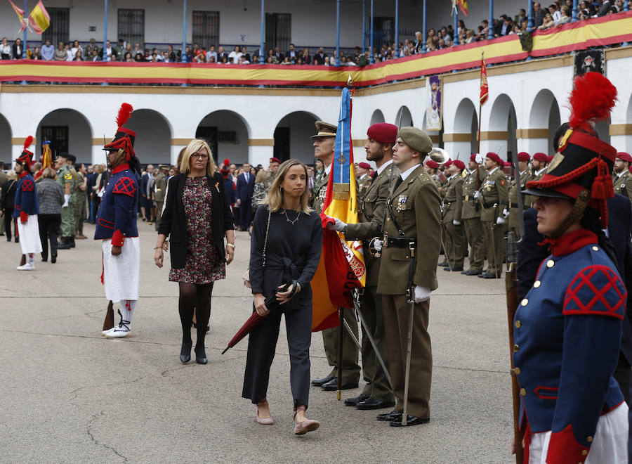
M 169 179 L 154 248 L 154 262 L 162 267 L 163 245 L 169 237 L 169 281 L 180 285 L 178 310 L 183 330 L 180 350 L 183 363 L 191 359 L 191 323 L 195 307 L 195 361 L 206 364 L 204 336 L 211 316 L 213 282 L 225 278 L 225 264 L 230 264 L 235 256 L 234 228 L 224 181 L 215 173 L 211 149 L 204 140 L 195 138 L 183 154 L 180 174 Z M 228 242 L 226 245 L 224 238 Z

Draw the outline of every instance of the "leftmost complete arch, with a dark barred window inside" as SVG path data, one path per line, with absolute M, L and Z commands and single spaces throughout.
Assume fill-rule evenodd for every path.
M 35 155 L 38 160 L 41 159 L 41 142 L 49 140 L 53 157 L 65 152 L 75 155 L 77 162 L 92 163 L 92 128 L 86 117 L 77 110 L 60 108 L 49 112 L 39 122 L 35 137 Z

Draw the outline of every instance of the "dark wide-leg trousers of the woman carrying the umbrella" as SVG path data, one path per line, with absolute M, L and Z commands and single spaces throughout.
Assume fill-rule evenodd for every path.
M 281 311 L 270 311 L 263 322 L 249 335 L 246 373 L 242 397 L 253 404 L 260 403 L 268 394 L 270 366 L 281 326 Z M 301 307 L 285 314 L 287 346 L 290 355 L 290 386 L 294 407 L 308 406 L 310 396 L 310 344 L 312 342 L 312 300 L 301 299 Z

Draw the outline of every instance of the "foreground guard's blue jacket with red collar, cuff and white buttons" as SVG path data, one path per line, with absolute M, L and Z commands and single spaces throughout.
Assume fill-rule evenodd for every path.
M 612 373 L 626 288 L 597 243 L 586 229 L 555 240 L 515 314 L 520 423 L 527 442 L 529 431 L 551 430 L 548 463 L 583 463 L 600 415 L 624 401 Z

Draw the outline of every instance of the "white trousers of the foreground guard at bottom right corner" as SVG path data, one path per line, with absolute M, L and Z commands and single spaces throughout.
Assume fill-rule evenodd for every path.
M 529 444 L 529 464 L 546 464 L 551 430 L 534 433 Z M 628 463 L 628 405 L 620 404 L 610 413 L 602 415 L 588 451 L 586 464 Z

